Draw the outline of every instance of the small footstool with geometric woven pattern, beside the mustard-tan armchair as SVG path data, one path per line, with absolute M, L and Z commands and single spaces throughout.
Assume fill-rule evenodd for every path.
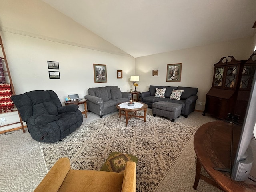
M 130 154 L 111 152 L 100 170 L 124 173 L 125 164 L 127 161 L 134 161 L 137 164 L 138 158 Z

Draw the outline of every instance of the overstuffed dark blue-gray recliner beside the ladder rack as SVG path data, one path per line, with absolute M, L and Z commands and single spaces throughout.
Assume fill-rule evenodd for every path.
M 52 90 L 13 95 L 11 100 L 27 123 L 31 137 L 39 142 L 57 142 L 74 132 L 83 122 L 78 105 L 62 106 Z

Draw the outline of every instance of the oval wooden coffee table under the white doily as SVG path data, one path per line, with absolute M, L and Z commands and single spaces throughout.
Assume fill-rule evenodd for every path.
M 138 102 L 138 103 L 140 103 L 140 102 Z M 118 103 L 116 105 L 116 108 L 119 110 L 119 118 L 121 117 L 121 115 L 125 115 L 126 125 L 128 124 L 128 120 L 131 117 L 144 118 L 144 121 L 146 122 L 146 113 L 147 113 L 147 109 L 148 109 L 148 105 L 146 103 L 141 103 L 143 106 L 141 108 L 135 108 L 135 109 L 121 108 L 119 106 L 120 104 L 121 103 Z M 142 110 L 144 110 L 144 116 L 137 115 L 137 111 L 142 111 Z M 121 113 L 121 111 L 124 111 L 124 113 Z M 132 114 L 129 114 L 130 112 L 132 112 Z

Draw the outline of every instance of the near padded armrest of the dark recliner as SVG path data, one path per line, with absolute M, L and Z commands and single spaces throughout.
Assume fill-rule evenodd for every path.
M 57 115 L 47 115 L 47 114 L 38 114 L 33 115 L 28 119 L 28 122 L 35 126 L 44 126 L 50 122 L 58 121 L 59 117 Z

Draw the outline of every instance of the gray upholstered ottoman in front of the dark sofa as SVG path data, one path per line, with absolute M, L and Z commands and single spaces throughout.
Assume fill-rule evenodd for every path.
M 176 118 L 180 117 L 181 109 L 182 104 L 180 103 L 158 101 L 152 104 L 152 113 L 154 117 L 159 115 L 171 118 L 172 122 L 174 122 Z

